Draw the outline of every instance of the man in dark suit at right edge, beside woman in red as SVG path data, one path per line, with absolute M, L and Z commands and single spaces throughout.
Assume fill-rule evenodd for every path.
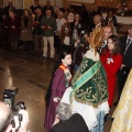
M 118 74 L 119 98 L 121 96 L 129 72 L 132 68 L 132 24 L 129 26 L 128 32 L 129 34 L 127 36 L 120 37 L 120 50 L 123 56 L 123 62 Z

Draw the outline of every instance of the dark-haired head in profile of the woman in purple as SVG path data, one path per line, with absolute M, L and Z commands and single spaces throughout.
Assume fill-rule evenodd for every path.
M 61 53 L 61 61 L 65 66 L 68 66 L 72 64 L 72 54 L 68 51 L 64 51 Z

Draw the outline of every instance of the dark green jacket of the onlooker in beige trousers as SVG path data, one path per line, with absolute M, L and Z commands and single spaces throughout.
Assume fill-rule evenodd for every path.
M 54 36 L 54 31 L 56 31 L 56 29 L 57 29 L 57 24 L 56 24 L 55 18 L 51 16 L 51 18 L 47 19 L 46 16 L 43 16 L 42 20 L 41 20 L 41 28 L 43 25 L 44 26 L 48 26 L 50 25 L 52 28 L 52 30 L 44 29 L 42 35 L 43 36 Z

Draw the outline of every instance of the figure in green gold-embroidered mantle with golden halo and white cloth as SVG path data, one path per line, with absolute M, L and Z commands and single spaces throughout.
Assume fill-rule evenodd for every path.
M 97 53 L 102 40 L 102 29 L 95 29 L 90 50 L 72 80 L 73 89 L 67 89 L 62 98 L 62 102 L 72 105 L 73 113 L 81 114 L 90 132 L 103 132 L 103 118 L 109 112 L 107 77 Z

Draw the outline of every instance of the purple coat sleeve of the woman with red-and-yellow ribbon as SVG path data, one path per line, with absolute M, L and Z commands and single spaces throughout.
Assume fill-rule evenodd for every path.
M 54 75 L 54 79 L 53 79 L 53 82 L 52 82 L 52 96 L 53 97 L 57 97 L 58 94 L 57 94 L 57 90 L 59 90 L 59 82 L 62 81 L 62 78 L 64 76 L 64 73 L 61 68 L 58 68 Z

